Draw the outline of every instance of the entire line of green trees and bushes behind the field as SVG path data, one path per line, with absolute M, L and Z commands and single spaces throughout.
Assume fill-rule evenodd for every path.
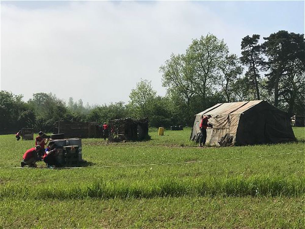
M 305 40 L 303 34 L 278 31 L 241 41 L 241 57 L 213 34 L 193 39 L 185 53 L 172 53 L 160 66 L 165 96 L 141 80 L 130 101 L 83 105 L 70 97 L 66 104 L 52 93 L 22 95 L 0 91 L 0 131 L 22 127 L 51 130 L 57 121 L 108 122 L 117 118 L 149 118 L 153 127 L 192 125 L 194 115 L 216 103 L 267 100 L 291 114 L 305 113 Z

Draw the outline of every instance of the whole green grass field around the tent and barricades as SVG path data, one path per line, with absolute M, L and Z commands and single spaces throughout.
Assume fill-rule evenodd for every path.
M 199 148 L 191 129 L 83 139 L 81 169 L 13 168 L 34 141 L 3 135 L 0 228 L 304 228 L 305 128 L 293 131 L 298 142 L 245 147 Z

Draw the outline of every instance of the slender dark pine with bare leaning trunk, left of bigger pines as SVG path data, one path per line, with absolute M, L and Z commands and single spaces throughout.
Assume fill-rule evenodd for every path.
M 264 58 L 262 57 L 262 46 L 258 44 L 260 35 L 254 34 L 252 37 L 249 35 L 242 38 L 242 57 L 240 58 L 242 64 L 248 67 L 247 75 L 251 79 L 250 83 L 253 84 L 255 88 L 256 99 L 260 100 L 259 91 L 259 70 L 258 67 L 262 65 Z

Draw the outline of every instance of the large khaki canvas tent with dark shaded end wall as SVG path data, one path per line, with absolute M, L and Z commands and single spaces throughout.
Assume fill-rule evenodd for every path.
M 191 140 L 200 137 L 202 115 L 212 115 L 206 144 L 252 145 L 294 141 L 290 117 L 264 100 L 216 104 L 196 115 Z

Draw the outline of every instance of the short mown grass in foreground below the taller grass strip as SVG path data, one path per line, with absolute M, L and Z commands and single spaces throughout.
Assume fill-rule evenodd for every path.
M 304 198 L 165 197 L 0 202 L 3 228 L 304 228 Z

